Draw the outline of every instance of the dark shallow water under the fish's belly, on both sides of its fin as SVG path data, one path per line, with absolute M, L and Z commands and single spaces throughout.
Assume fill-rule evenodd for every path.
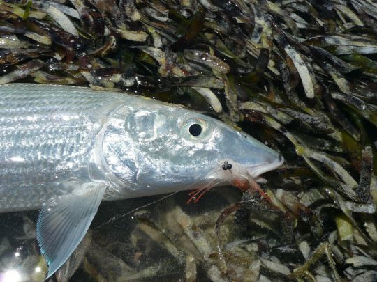
M 185 265 L 188 259 L 193 260 L 192 276 L 197 281 L 210 281 L 206 273 L 216 260 L 205 260 L 211 254 L 216 256 L 216 240 L 211 233 L 217 214 L 237 202 L 241 191 L 217 187 L 196 204 L 186 204 L 190 197 L 187 191 L 166 196 L 103 202 L 73 255 L 84 253 L 84 259 L 78 265 L 70 260 L 70 267 L 78 267 L 70 281 L 184 281 L 191 273 Z M 37 217 L 37 211 L 0 216 L 4 226 L 0 233 L 0 269 L 7 277 L 13 275 L 14 281 L 18 276 L 19 281 L 41 281 L 45 272 L 34 236 Z M 194 222 L 186 226 L 186 220 Z M 227 239 L 242 239 L 230 230 L 227 235 Z

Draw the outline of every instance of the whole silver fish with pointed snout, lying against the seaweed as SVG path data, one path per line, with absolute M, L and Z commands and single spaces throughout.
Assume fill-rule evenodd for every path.
M 283 157 L 219 120 L 145 97 L 0 86 L 0 212 L 40 210 L 49 266 L 64 264 L 102 200 L 257 178 Z

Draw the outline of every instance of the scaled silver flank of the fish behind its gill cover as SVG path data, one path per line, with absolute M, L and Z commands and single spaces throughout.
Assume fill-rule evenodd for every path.
M 102 126 L 93 113 L 106 115 L 119 103 L 101 92 L 45 95 L 42 89 L 1 91 L 0 212 L 32 210 L 69 193 L 57 184 L 82 178 L 87 170 Z

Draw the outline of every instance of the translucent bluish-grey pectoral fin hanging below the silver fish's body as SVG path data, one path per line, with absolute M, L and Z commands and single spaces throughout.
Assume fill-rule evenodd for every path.
M 77 183 L 77 193 L 62 196 L 39 213 L 36 235 L 48 265 L 47 278 L 63 265 L 80 244 L 103 198 L 103 182 Z M 47 279 L 46 278 L 46 279 Z

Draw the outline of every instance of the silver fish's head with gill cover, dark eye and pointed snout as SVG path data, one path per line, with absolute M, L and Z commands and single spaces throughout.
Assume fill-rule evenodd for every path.
M 126 182 L 121 193 L 147 196 L 258 178 L 283 157 L 220 120 L 167 106 L 128 109 L 104 139 L 112 172 Z

